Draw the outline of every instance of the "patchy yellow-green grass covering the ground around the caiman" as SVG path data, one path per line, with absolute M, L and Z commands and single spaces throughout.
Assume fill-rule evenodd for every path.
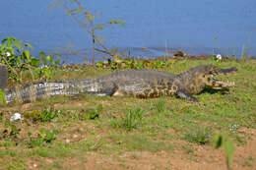
M 132 151 L 160 153 L 183 148 L 186 154 L 196 156 L 193 146 L 179 142 L 207 145 L 215 142 L 219 147 L 229 143 L 220 140 L 223 136 L 218 137 L 219 141 L 214 140 L 221 132 L 234 145 L 246 144 L 250 138 L 239 130 L 256 128 L 256 61 L 170 60 L 159 70 L 178 74 L 205 64 L 236 67 L 235 75 L 220 76 L 235 82 L 235 87 L 207 89 L 196 96 L 199 102 L 175 96 L 139 99 L 86 95 L 57 96 L 1 108 L 0 169 L 32 166 L 67 169 L 72 164 L 69 164 L 71 158 L 78 162 L 72 164 L 73 169 L 83 169 L 87 155 L 92 152 L 114 156 Z M 55 68 L 52 80 L 92 78 L 113 71 L 108 67 Z M 24 120 L 10 122 L 15 112 L 21 113 Z M 136 153 L 133 155 L 135 160 L 139 159 Z M 246 159 L 246 166 L 251 166 L 254 159 Z M 126 166 L 120 162 L 120 167 Z

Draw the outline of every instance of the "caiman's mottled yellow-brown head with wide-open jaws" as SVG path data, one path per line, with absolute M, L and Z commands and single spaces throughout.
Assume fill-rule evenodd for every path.
M 192 68 L 189 71 L 178 75 L 179 84 L 181 84 L 182 86 L 182 89 L 180 89 L 181 94 L 197 94 L 206 87 L 221 89 L 234 86 L 233 82 L 222 82 L 214 78 L 217 75 L 229 74 L 234 72 L 237 72 L 237 69 L 235 67 L 220 69 L 213 65 L 203 65 Z

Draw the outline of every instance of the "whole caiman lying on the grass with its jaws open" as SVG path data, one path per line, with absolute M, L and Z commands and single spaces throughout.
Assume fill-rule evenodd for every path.
M 93 79 L 15 85 L 4 90 L 4 97 L 7 103 L 27 103 L 49 96 L 76 94 L 141 98 L 176 95 L 180 98 L 197 101 L 197 98 L 192 95 L 200 93 L 206 87 L 220 89 L 234 86 L 234 83 L 224 83 L 214 79 L 216 75 L 232 72 L 237 72 L 237 69 L 235 67 L 220 69 L 213 65 L 198 66 L 179 75 L 156 70 L 128 70 Z M 6 84 L 4 82 L 2 81 L 0 86 L 6 86 L 3 85 Z

